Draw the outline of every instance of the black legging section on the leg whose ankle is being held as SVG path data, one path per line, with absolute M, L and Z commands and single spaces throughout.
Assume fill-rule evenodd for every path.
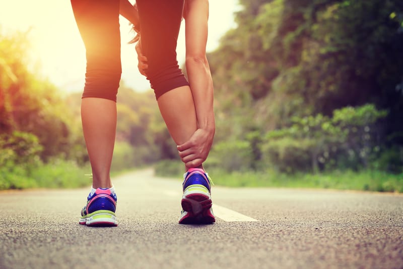
M 184 0 L 137 0 L 142 52 L 148 60 L 147 79 L 158 99 L 165 92 L 189 85 L 176 60 Z

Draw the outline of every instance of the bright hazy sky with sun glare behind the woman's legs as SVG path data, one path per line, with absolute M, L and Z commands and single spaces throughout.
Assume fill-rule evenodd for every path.
M 133 0 L 130 0 L 133 3 Z M 220 37 L 234 27 L 233 13 L 239 9 L 237 0 L 210 1 L 208 51 L 214 50 Z M 81 91 L 84 85 L 85 48 L 74 20 L 70 1 L 38 0 L 0 2 L 0 30 L 27 33 L 31 51 L 28 53 L 37 72 L 43 74 L 64 91 Z M 124 18 L 120 18 L 122 80 L 137 90 L 150 87 L 137 70 L 134 45 L 128 45 L 132 36 Z M 178 39 L 178 61 L 184 61 L 184 25 Z M 30 60 L 31 60 L 30 59 Z M 29 60 L 28 60 L 29 61 Z M 32 64 L 32 63 L 27 63 Z

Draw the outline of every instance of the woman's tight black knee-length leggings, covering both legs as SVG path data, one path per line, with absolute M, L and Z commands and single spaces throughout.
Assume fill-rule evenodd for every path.
M 83 98 L 116 101 L 121 76 L 119 0 L 71 0 L 86 48 Z M 137 0 L 147 79 L 158 99 L 163 93 L 189 85 L 176 60 L 176 41 L 183 0 Z M 135 49 L 133 48 L 133 53 Z

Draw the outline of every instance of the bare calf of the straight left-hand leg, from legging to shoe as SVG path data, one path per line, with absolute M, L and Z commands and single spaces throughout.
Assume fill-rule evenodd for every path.
M 93 188 L 110 188 L 110 166 L 116 135 L 116 102 L 83 98 L 81 118 L 92 168 Z

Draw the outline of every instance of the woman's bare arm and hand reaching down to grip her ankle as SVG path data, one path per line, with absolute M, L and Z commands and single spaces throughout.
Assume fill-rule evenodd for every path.
M 179 156 L 188 167 L 206 160 L 215 134 L 213 80 L 206 57 L 208 0 L 185 0 L 186 70 L 193 95 L 198 129 L 186 143 L 179 145 Z

